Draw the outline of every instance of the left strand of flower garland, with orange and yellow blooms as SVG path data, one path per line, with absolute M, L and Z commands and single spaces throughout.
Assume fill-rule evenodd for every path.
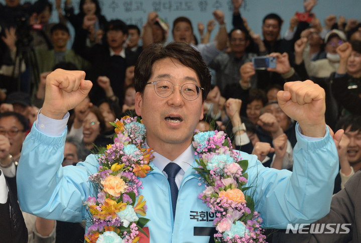
M 145 148 L 146 129 L 135 117 L 123 117 L 112 123 L 115 127 L 114 143 L 99 155 L 98 172 L 89 176 L 97 189 L 96 197 L 88 197 L 84 205 L 91 225 L 85 233 L 90 243 L 138 242 L 139 232 L 149 219 L 145 216 L 146 201 L 139 195 L 144 178 L 153 169 L 152 149 Z M 138 201 L 136 198 L 138 197 Z

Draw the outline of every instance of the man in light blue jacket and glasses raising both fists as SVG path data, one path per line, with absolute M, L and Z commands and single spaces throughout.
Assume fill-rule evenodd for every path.
M 90 155 L 76 167 L 61 167 L 67 111 L 91 89 L 91 82 L 84 78 L 82 71 L 62 69 L 47 77 L 44 106 L 24 142 L 18 167 L 19 201 L 26 212 L 73 222 L 86 216 L 82 202 L 94 195 L 87 179 L 97 172 L 96 157 Z M 162 92 L 157 89 L 159 83 Z M 155 151 L 154 171 L 141 179 L 146 217 L 151 219 L 146 224 L 149 240 L 211 242 L 215 215 L 197 198 L 204 186 L 198 186 L 199 176 L 192 170 L 196 156 L 191 144 L 210 90 L 208 68 L 188 44 L 152 45 L 138 60 L 135 86 L 136 112 L 147 129 L 147 145 Z M 193 95 L 187 94 L 190 87 Z M 284 112 L 299 122 L 293 173 L 265 168 L 255 155 L 242 156 L 249 160 L 246 186 L 255 186 L 253 198 L 264 219 L 262 226 L 286 228 L 288 223 L 311 223 L 329 212 L 338 170 L 335 143 L 342 131 L 333 136 L 327 128 L 325 93 L 310 80 L 286 83 L 278 99 Z M 181 168 L 175 177 L 179 189 L 175 215 L 164 172 L 171 161 Z

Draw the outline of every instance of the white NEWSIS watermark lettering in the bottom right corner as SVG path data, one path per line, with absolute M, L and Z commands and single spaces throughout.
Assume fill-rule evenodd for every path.
M 349 227 L 350 223 L 301 223 L 301 224 L 287 224 L 286 234 L 290 233 L 290 230 L 293 233 L 300 234 L 347 234 L 350 232 Z

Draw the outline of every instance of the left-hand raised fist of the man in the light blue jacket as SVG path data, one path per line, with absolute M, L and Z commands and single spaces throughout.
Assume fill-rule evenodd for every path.
M 88 95 L 93 84 L 85 80 L 84 71 L 56 69 L 46 77 L 45 101 L 41 113 L 52 119 L 64 115 L 79 105 Z

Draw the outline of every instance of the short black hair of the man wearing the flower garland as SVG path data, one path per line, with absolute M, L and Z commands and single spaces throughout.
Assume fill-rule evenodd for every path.
M 210 90 L 211 75 L 199 51 L 189 44 L 174 41 L 166 46 L 152 44 L 139 56 L 134 69 L 134 84 L 136 92 L 143 93 L 146 84 L 152 76 L 153 64 L 165 58 L 172 58 L 183 65 L 192 68 L 198 76 L 200 86 L 204 89 L 202 100 L 205 101 Z

